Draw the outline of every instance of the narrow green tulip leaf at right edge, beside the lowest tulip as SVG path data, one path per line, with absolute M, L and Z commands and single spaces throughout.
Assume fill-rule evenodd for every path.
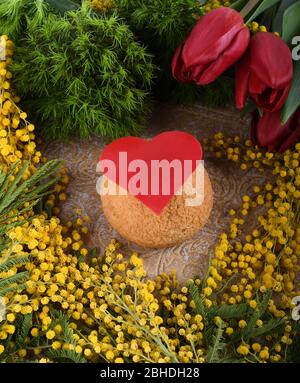
M 286 103 L 282 109 L 281 120 L 285 124 L 287 120 L 292 116 L 293 113 L 300 106 L 300 60 L 296 61 L 294 65 L 294 77 L 292 88 L 290 90 L 289 96 L 286 100 Z

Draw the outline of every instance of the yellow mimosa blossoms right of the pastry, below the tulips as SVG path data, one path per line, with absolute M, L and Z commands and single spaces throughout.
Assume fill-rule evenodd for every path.
M 256 308 L 257 293 L 271 289 L 274 299 L 270 301 L 268 310 L 274 317 L 285 318 L 292 307 L 292 298 L 300 295 L 297 279 L 300 256 L 300 144 L 296 144 L 295 150 L 287 150 L 281 155 L 261 151 L 250 141 L 242 143 L 239 137 L 226 138 L 218 133 L 212 140 L 206 140 L 205 146 L 216 158 L 241 162 L 240 167 L 244 171 L 254 168 L 269 174 L 269 181 L 264 185 L 253 185 L 253 193 L 243 196 L 240 211 L 229 211 L 232 216 L 230 230 L 220 236 L 216 246 L 211 267 L 214 283 L 211 281 L 210 290 L 205 294 L 209 297 L 213 290 L 218 290 L 221 278 L 216 278 L 217 271 L 222 278 L 238 276 L 238 281 L 222 294 L 223 303 L 233 305 L 246 301 L 250 307 Z M 256 228 L 245 233 L 246 218 L 254 209 L 261 212 Z M 262 209 L 266 209 L 265 214 Z M 287 329 L 289 331 L 281 338 L 284 344 L 292 343 L 290 326 Z M 249 344 L 241 344 L 237 351 L 247 355 L 250 349 Z M 268 348 L 259 348 L 258 351 L 260 359 L 269 359 Z M 272 357 L 274 361 L 279 359 L 279 354 Z

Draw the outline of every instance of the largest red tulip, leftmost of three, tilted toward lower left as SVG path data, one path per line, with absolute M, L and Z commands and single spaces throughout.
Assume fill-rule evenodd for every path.
M 242 16 L 231 8 L 217 8 L 201 17 L 177 48 L 172 73 L 183 83 L 213 82 L 243 55 L 250 33 Z

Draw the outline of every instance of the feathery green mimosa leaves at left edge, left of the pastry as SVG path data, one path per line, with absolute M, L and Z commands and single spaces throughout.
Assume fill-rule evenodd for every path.
M 0 296 L 4 297 L 15 291 L 26 288 L 29 274 L 26 270 L 17 274 L 1 277 L 16 266 L 25 265 L 29 259 L 23 255 L 11 255 L 11 243 L 7 239 L 7 232 L 12 227 L 24 224 L 30 217 L 25 213 L 35 206 L 42 197 L 47 195 L 51 186 L 58 181 L 53 175 L 61 165 L 61 161 L 53 160 L 38 169 L 31 177 L 24 180 L 23 175 L 30 162 L 17 171 L 16 162 L 7 173 L 0 170 L 0 253 L 6 250 L 7 255 L 0 257 Z M 12 180 L 13 178 L 13 180 Z M 20 219 L 20 216 L 24 218 Z

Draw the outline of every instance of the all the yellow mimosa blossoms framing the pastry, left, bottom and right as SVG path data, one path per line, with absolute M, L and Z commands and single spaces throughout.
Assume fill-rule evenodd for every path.
M 9 84 L 10 75 L 6 75 L 11 43 L 8 47 L 8 61 L 1 63 L 6 71 L 0 76 L 1 84 Z M 22 161 L 32 160 L 30 169 L 34 172 L 34 158 L 41 155 L 36 149 L 29 153 L 28 142 L 16 137 L 19 129 L 25 129 L 22 135 L 28 134 L 29 142 L 34 142 L 33 133 L 28 131 L 30 124 L 24 115 L 20 118 L 18 100 L 11 92 L 3 87 L 1 92 L 4 103 L 10 101 L 11 105 L 5 109 L 2 103 L 1 107 L 1 131 L 6 132 L 7 141 L 0 141 L 0 151 L 9 143 L 12 153 L 21 152 L 17 157 Z M 9 123 L 3 124 L 5 118 Z M 19 120 L 17 128 L 13 128 L 14 118 Z M 174 273 L 148 279 L 142 259 L 136 253 L 124 257 L 115 241 L 103 257 L 89 256 L 84 246 L 88 217 L 65 225 L 55 216 L 49 219 L 46 213 L 31 217 L 8 231 L 7 248 L 0 254 L 0 263 L 9 256 L 29 258 L 25 265 L 15 265 L 0 274 L 0 279 L 20 272 L 29 274 L 18 293 L 5 296 L 6 317 L 0 322 L 4 360 L 28 358 L 44 363 L 52 360 L 52 351 L 73 353 L 90 362 L 205 362 L 211 357 L 214 329 L 222 331 L 229 348 L 234 345 L 236 358 L 251 362 L 284 360 L 294 337 L 288 319 L 291 300 L 300 295 L 300 145 L 282 156 L 260 151 L 239 137 L 217 134 L 205 146 L 217 158 L 240 163 L 245 171 L 269 174 L 265 185 L 253 185 L 253 192 L 242 198 L 240 211 L 229 211 L 232 222 L 228 232 L 220 236 L 206 278 L 189 281 L 184 287 L 178 286 Z M 0 158 L 3 169 L 12 163 L 13 158 Z M 63 174 L 62 184 L 47 199 L 54 214 L 58 213 L 56 201 L 67 197 L 67 183 L 68 176 Z M 248 233 L 244 224 L 254 209 L 261 213 L 256 228 Z M 191 283 L 200 292 L 196 296 L 191 294 Z M 244 337 L 243 331 L 247 332 L 259 312 L 260 298 L 268 291 L 272 297 L 266 318 L 281 318 L 283 329 L 265 335 L 263 329 L 269 324 L 258 316 L 252 327 L 260 335 Z M 220 307 L 224 310 L 240 303 L 250 316 L 228 319 L 224 311 L 217 312 Z M 59 319 L 57 312 L 65 319 Z M 212 315 L 209 320 L 207 312 Z M 25 316 L 32 316 L 32 322 L 19 345 L 18 319 Z

